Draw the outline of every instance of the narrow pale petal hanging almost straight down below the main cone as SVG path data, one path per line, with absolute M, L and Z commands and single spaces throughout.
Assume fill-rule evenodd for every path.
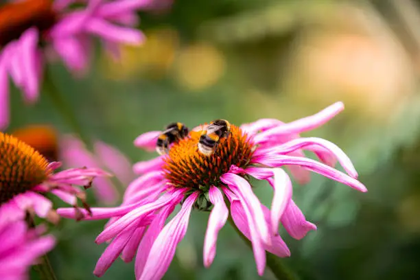
M 203 248 L 203 261 L 206 268 L 209 268 L 213 262 L 216 252 L 218 233 L 226 223 L 229 215 L 229 211 L 224 203 L 222 192 L 217 187 L 210 187 L 209 198 L 214 207 L 209 216 L 209 224 L 207 225 Z

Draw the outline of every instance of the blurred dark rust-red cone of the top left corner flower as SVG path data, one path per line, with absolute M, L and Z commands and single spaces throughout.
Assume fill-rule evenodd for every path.
M 30 27 L 40 32 L 56 23 L 52 0 L 10 1 L 0 6 L 0 46 L 17 39 Z

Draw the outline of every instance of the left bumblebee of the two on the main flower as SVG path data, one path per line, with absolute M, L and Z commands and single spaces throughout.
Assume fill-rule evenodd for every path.
M 180 122 L 174 122 L 166 126 L 166 129 L 159 135 L 156 141 L 156 152 L 167 154 L 170 145 L 187 137 L 189 129 Z

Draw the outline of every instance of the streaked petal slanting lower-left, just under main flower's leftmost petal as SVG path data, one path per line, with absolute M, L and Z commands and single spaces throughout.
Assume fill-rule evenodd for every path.
M 164 194 L 154 202 L 151 202 L 147 205 L 141 205 L 137 209 L 130 211 L 129 213 L 115 221 L 113 224 L 110 224 L 110 226 L 108 226 L 106 229 L 104 229 L 104 231 L 102 231 L 102 233 L 100 233 L 100 235 L 97 236 L 95 242 L 97 244 L 106 242 L 106 240 L 110 240 L 111 238 L 119 234 L 121 231 L 135 226 L 135 222 L 137 220 L 141 220 L 143 217 L 145 217 L 145 215 L 148 215 L 153 211 L 161 209 L 165 205 L 172 204 L 174 201 L 180 202 L 186 191 L 187 190 L 185 189 L 176 189 L 173 192 L 168 192 L 167 194 Z

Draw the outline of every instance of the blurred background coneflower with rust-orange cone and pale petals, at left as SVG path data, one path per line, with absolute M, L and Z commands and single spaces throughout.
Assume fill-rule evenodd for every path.
M 59 136 L 54 127 L 45 124 L 23 126 L 14 130 L 12 135 L 35 148 L 48 161 L 62 162 L 65 168 L 86 166 L 107 170 L 122 186 L 135 178 L 127 157 L 103 141 L 93 141 L 93 152 L 90 152 L 77 137 Z M 96 178 L 93 193 L 106 205 L 112 205 L 119 199 L 117 186 L 106 177 Z

